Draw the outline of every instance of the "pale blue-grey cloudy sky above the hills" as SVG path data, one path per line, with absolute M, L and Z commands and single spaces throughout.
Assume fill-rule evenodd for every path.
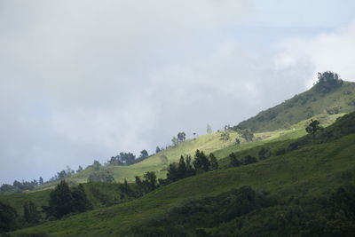
M 0 184 L 355 81 L 355 1 L 0 0 Z

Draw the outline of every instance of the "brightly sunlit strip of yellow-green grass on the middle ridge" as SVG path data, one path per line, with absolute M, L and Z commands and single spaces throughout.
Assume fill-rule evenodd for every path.
M 338 115 L 316 115 L 312 119 L 317 119 L 322 126 L 328 126 L 335 122 Z M 206 154 L 214 153 L 217 159 L 224 158 L 228 154 L 234 151 L 241 151 L 249 149 L 254 146 L 260 146 L 265 143 L 285 140 L 289 138 L 299 138 L 305 135 L 305 126 L 309 123 L 309 120 L 304 120 L 290 126 L 286 130 L 274 130 L 268 132 L 259 132 L 255 134 L 255 140 L 252 142 L 245 142 L 239 134 L 233 130 L 228 130 L 230 134 L 229 140 L 221 140 L 222 132 L 216 132 L 213 134 L 206 134 L 198 138 L 193 138 L 180 143 L 178 146 L 171 146 L 166 150 L 163 150 L 159 154 L 150 156 L 143 162 L 138 162 L 130 166 L 106 166 L 101 170 L 107 170 L 114 176 L 116 182 L 122 182 L 124 178 L 128 181 L 134 181 L 135 176 L 142 176 L 147 171 L 154 171 L 158 178 L 165 178 L 166 168 L 170 162 L 178 162 L 181 155 L 190 154 L 193 155 L 196 149 L 204 151 Z M 235 138 L 242 140 L 241 145 L 235 144 Z M 67 181 L 72 184 L 85 183 L 91 173 L 95 172 L 92 167 L 83 170 L 74 176 L 67 178 Z M 40 186 L 37 190 L 45 190 L 57 185 L 58 182 L 51 182 Z

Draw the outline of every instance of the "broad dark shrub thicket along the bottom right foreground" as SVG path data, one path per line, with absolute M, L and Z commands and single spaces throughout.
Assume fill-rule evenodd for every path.
M 353 236 L 355 188 L 329 198 L 277 201 L 249 186 L 187 201 L 164 216 L 136 225 L 138 236 Z M 173 232 L 171 232 L 173 230 Z M 171 235 L 170 235 L 171 234 Z

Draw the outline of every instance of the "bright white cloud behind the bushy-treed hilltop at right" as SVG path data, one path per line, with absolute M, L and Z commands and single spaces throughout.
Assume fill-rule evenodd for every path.
M 316 72 L 334 71 L 344 80 L 355 81 L 355 22 L 331 33 L 296 38 L 280 45 L 278 67 L 293 67 L 305 62 L 314 67 L 308 85 L 316 81 Z

